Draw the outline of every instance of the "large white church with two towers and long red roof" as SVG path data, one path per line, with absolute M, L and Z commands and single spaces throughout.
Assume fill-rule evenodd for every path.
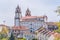
M 43 27 L 45 21 L 47 21 L 47 16 L 31 16 L 31 11 L 29 8 L 26 10 L 25 17 L 22 16 L 21 8 L 17 6 L 15 11 L 15 26 L 25 26 L 33 31 L 37 30 L 39 27 Z

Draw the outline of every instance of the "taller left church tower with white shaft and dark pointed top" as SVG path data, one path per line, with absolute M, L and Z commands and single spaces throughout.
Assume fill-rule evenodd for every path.
M 18 5 L 16 8 L 16 11 L 15 11 L 15 26 L 20 26 L 20 18 L 21 17 L 22 17 L 21 9 Z

